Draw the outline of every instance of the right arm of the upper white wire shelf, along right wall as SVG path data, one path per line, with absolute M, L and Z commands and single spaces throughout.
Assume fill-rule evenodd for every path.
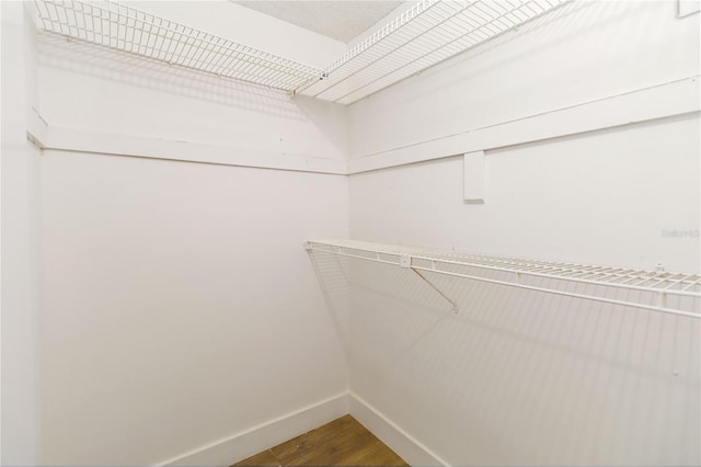
M 422 0 L 297 90 L 349 104 L 571 0 Z

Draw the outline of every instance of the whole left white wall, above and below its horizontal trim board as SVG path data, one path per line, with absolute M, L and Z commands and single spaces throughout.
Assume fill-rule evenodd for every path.
M 137 7 L 310 65 L 343 47 L 231 2 Z M 82 151 L 43 156 L 42 462 L 226 465 L 284 441 L 256 430 L 347 389 L 302 248 L 347 236 L 347 180 L 226 164 L 345 167 L 344 110 L 48 35 L 38 64 L 48 146 Z

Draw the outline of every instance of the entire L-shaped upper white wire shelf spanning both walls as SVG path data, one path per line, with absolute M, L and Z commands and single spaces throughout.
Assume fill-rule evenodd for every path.
M 35 0 L 41 27 L 219 77 L 342 104 L 572 0 L 421 0 L 324 70 L 111 0 Z

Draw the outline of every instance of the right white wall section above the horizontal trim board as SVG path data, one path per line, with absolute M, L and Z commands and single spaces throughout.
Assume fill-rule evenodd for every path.
M 573 2 L 352 104 L 349 157 L 696 77 L 699 41 L 676 2 Z

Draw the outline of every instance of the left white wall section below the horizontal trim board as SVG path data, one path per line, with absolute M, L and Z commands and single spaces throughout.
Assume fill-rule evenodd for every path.
M 343 392 L 302 243 L 346 205 L 343 176 L 45 151 L 43 463 L 165 462 Z

